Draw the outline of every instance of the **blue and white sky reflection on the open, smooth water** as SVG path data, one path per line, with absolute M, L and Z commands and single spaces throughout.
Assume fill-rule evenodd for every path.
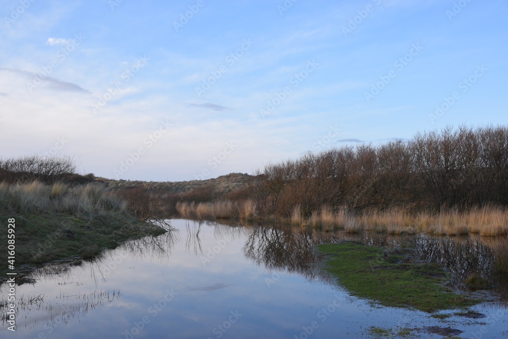
M 16 293 L 18 297 L 42 294 L 44 302 L 24 306 L 17 332 L 4 327 L 0 336 L 131 338 L 126 335 L 129 330 L 133 338 L 217 338 L 219 334 L 221 338 L 304 338 L 302 331 L 310 330 L 315 321 L 319 326 L 309 337 L 356 338 L 368 337 L 370 326 L 450 325 L 422 312 L 372 306 L 327 283 L 325 276 L 299 263 L 298 256 L 316 259 L 311 251 L 313 236 L 210 223 L 200 227 L 182 220 L 171 224 L 178 231 L 155 241 L 131 241 L 108 251 L 100 262 L 73 266 L 60 274 L 38 272 L 35 285 L 18 286 Z M 288 254 L 297 245 L 307 250 L 296 257 Z M 284 252 L 286 262 L 279 262 L 271 251 Z M 207 254 L 210 261 L 203 264 Z M 113 290 L 120 295 L 112 297 Z M 175 292 L 174 298 L 168 292 Z M 166 302 L 165 296 L 171 300 Z M 334 301 L 340 303 L 337 308 Z M 157 309 L 157 303 L 162 307 Z M 487 315 L 498 310 L 489 305 L 473 309 Z M 473 336 L 472 331 L 480 330 L 478 322 L 485 321 L 449 319 L 457 321 L 451 327 L 465 330 L 463 337 Z M 137 331 L 136 324 L 143 329 Z M 218 325 L 231 327 L 223 332 Z M 487 329 L 484 337 L 501 336 L 508 329 L 508 316 L 493 326 L 487 324 Z

